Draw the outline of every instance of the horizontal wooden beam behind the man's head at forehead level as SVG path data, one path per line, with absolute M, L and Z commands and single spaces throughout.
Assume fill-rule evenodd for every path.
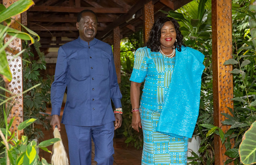
M 30 22 L 76 22 L 76 17 L 35 17 L 29 16 Z M 98 22 L 112 22 L 110 17 L 98 17 Z

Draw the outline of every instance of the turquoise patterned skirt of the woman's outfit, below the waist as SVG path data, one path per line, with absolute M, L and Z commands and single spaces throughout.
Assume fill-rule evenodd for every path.
M 143 130 L 142 165 L 186 165 L 188 138 L 156 132 L 161 112 L 140 107 Z

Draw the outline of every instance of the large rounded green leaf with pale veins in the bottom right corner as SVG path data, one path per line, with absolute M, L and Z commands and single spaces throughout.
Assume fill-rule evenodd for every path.
M 242 142 L 239 147 L 240 160 L 243 164 L 256 163 L 256 121 L 243 135 Z

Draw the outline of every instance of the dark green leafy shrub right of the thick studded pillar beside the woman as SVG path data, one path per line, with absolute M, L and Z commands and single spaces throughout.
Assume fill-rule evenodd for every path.
M 250 63 L 254 63 L 253 65 L 255 65 L 255 60 L 249 60 L 253 56 L 255 57 L 255 50 L 250 50 L 251 52 L 254 52 L 253 55 L 239 56 L 240 53 L 245 53 L 243 48 L 246 47 L 246 44 L 243 44 L 242 47 L 238 49 L 236 38 L 234 38 L 234 44 L 236 48 L 234 59 L 227 60 L 224 65 L 232 64 L 234 66 L 234 69 L 231 71 L 231 73 L 233 73 L 233 76 L 236 77 L 236 79 L 239 78 L 241 80 L 241 86 L 239 87 L 240 94 L 238 92 L 234 93 L 235 97 L 232 99 L 234 101 L 234 108 L 228 108 L 230 113 L 222 113 L 222 115 L 227 118 L 222 122 L 222 124 L 230 125 L 231 127 L 224 134 L 219 127 L 215 127 L 213 125 L 201 125 L 210 129 L 207 133 L 207 137 L 211 136 L 213 133 L 220 136 L 222 144 L 225 145 L 227 150 L 225 155 L 231 158 L 228 159 L 225 164 L 230 162 L 234 162 L 234 164 L 240 164 L 238 149 L 239 145 L 242 142 L 242 137 L 245 131 L 248 130 L 252 123 L 256 120 L 256 109 L 254 107 L 256 106 L 256 95 L 255 89 L 252 88 L 252 86 L 255 85 L 256 80 L 254 80 L 251 84 L 249 84 L 250 81 L 246 81 L 246 79 L 250 79 L 250 77 L 255 78 L 255 75 L 251 76 L 245 72 L 247 69 L 250 69 Z M 241 96 L 243 93 L 245 96 Z M 217 129 L 218 131 L 216 131 Z M 234 146 L 232 147 L 230 139 L 234 139 Z

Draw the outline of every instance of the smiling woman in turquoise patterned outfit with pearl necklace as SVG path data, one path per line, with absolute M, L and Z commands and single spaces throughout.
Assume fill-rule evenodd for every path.
M 198 117 L 204 55 L 183 44 L 174 18 L 159 17 L 134 55 L 132 128 L 143 130 L 142 165 L 186 165 Z M 140 86 L 145 81 L 140 100 Z

